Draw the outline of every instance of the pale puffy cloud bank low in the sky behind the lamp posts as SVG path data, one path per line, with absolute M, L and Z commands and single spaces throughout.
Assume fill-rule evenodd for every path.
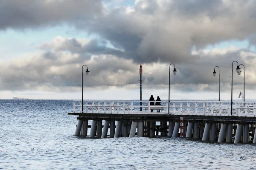
M 66 45 L 76 42 L 79 48 L 83 48 L 90 44 L 90 41 L 89 39 L 56 37 L 50 42 L 39 45 L 41 50 L 35 54 L 23 54 L 9 62 L 0 62 L 0 90 L 77 91 L 81 87 L 81 66 L 83 64 L 86 64 L 90 71 L 89 76 L 84 74 L 85 87 L 138 86 L 139 65 L 132 59 L 110 54 L 84 57 L 81 50 L 73 51 L 73 45 Z M 55 42 L 58 43 L 55 44 Z M 51 50 L 49 51 L 48 48 Z M 217 65 L 220 67 L 221 89 L 228 91 L 231 82 L 231 64 L 234 60 L 245 65 L 246 88 L 255 88 L 256 54 L 254 52 L 231 46 L 225 49 L 194 50 L 191 55 L 197 55 L 200 59 L 194 63 L 175 63 L 178 72 L 176 75 L 171 72 L 170 75 L 173 90 L 216 91 L 218 76 L 213 77 L 212 71 Z M 170 63 L 142 64 L 143 85 L 156 89 L 168 88 Z M 171 71 L 173 68 L 171 65 Z M 233 65 L 233 69 L 235 68 L 236 63 Z M 242 67 L 241 70 L 243 71 Z M 218 73 L 218 69 L 216 72 Z M 238 76 L 233 70 L 234 89 L 242 88 L 242 76 L 243 74 Z

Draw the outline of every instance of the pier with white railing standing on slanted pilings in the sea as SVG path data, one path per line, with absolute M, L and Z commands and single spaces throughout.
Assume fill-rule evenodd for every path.
M 77 136 L 170 136 L 218 143 L 256 143 L 256 101 L 233 101 L 232 107 L 230 101 L 172 100 L 161 101 L 161 105 L 150 102 L 75 100 L 73 112 L 68 114 L 78 116 Z

